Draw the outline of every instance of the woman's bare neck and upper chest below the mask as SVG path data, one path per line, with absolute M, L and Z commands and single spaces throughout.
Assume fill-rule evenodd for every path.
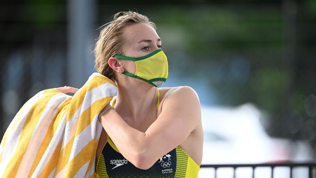
M 138 80 L 138 79 L 133 79 Z M 118 95 L 115 109 L 123 118 L 138 120 L 144 117 L 143 113 L 156 108 L 157 88 L 143 82 L 118 83 Z

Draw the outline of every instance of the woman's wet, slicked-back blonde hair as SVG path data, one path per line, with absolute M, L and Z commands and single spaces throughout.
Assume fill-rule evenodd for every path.
M 123 53 L 123 28 L 136 23 L 148 23 L 155 30 L 157 29 L 155 23 L 137 12 L 126 11 L 118 12 L 114 15 L 111 22 L 106 23 L 105 28 L 101 30 L 100 36 L 95 44 L 95 69 L 113 81 L 116 80 L 115 72 L 108 65 L 108 59 L 115 55 L 124 55 Z M 101 26 L 102 27 L 102 26 Z

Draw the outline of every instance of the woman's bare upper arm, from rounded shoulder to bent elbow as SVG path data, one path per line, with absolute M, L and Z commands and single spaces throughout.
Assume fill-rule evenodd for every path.
M 142 162 L 153 165 L 190 135 L 201 119 L 200 102 L 190 87 L 171 89 L 165 95 L 161 113 L 145 132 Z

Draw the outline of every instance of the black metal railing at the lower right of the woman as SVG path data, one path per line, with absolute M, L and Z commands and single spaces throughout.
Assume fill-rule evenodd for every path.
M 255 178 L 255 169 L 257 167 L 270 167 L 271 168 L 271 178 L 273 177 L 275 167 L 288 167 L 290 168 L 290 178 L 293 178 L 293 168 L 294 167 L 307 167 L 308 168 L 308 178 L 313 177 L 313 170 L 316 167 L 316 162 L 285 162 L 285 163 L 261 163 L 261 164 L 202 164 L 201 168 L 214 168 L 215 175 L 214 178 L 217 178 L 217 169 L 218 168 L 233 168 L 233 178 L 236 178 L 236 168 L 239 167 L 250 167 L 252 168 L 252 178 Z

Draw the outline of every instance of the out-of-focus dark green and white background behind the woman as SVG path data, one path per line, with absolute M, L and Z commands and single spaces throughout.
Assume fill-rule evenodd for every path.
M 127 10 L 158 26 L 163 87 L 199 95 L 202 163 L 315 160 L 315 0 L 1 0 L 1 138 L 40 90 L 83 86 L 98 28 Z

